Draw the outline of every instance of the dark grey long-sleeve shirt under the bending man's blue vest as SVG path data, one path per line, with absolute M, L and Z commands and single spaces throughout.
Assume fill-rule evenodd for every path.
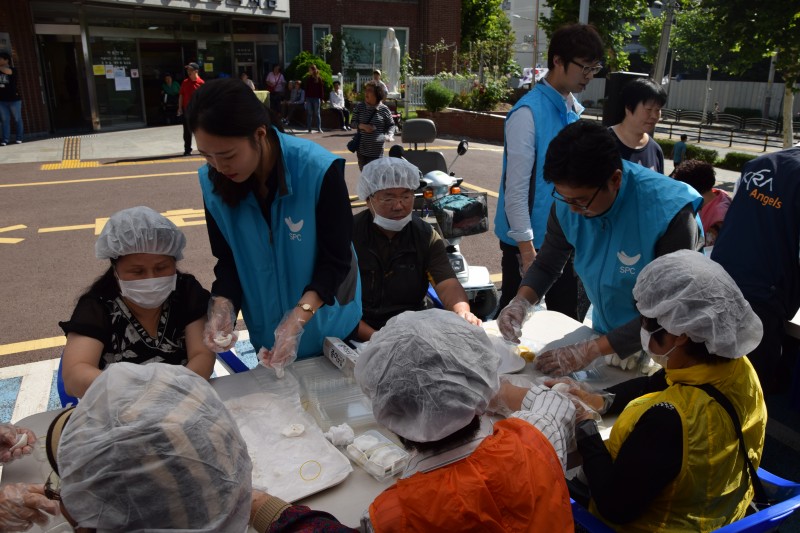
M 656 241 L 655 256 L 660 257 L 676 250 L 700 250 L 702 246 L 703 238 L 695 220 L 694 210 L 691 204 L 687 204 L 672 218 L 667 231 Z M 561 275 L 573 251 L 574 248 L 564 235 L 553 205 L 547 219 L 544 244 L 536 255 L 536 260 L 525 273 L 522 285 L 527 285 L 536 291 L 541 299 Z M 639 319 L 635 318 L 606 334 L 609 344 L 617 355 L 624 358 L 642 349 L 639 339 L 640 327 Z

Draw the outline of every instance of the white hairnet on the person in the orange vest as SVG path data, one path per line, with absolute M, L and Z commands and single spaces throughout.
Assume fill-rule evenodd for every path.
M 375 420 L 414 442 L 443 439 L 482 414 L 500 387 L 489 337 L 450 311 L 407 311 L 372 336 L 355 377 Z

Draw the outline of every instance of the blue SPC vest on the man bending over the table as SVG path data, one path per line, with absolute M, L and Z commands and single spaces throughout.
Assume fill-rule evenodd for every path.
M 636 277 L 655 259 L 656 242 L 678 211 L 691 203 L 697 213 L 702 200 L 685 183 L 623 160 L 619 193 L 603 215 L 584 217 L 556 204 L 564 235 L 575 248 L 575 271 L 592 302 L 595 330 L 608 333 L 639 316 Z

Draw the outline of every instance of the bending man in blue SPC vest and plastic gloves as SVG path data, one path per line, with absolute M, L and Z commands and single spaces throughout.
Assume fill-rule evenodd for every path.
M 593 304 L 592 327 L 602 336 L 538 354 L 537 369 L 564 375 L 601 355 L 639 352 L 636 277 L 656 257 L 702 247 L 702 197 L 685 183 L 623 161 L 613 135 L 596 122 L 561 130 L 547 149 L 544 179 L 558 201 L 542 248 L 497 319 L 503 337 L 519 342 L 533 305 L 574 254 L 575 271 Z

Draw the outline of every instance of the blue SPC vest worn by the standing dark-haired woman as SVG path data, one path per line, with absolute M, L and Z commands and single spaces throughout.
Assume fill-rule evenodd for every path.
M 237 207 L 231 207 L 213 192 L 208 167 L 198 172 L 206 208 L 233 251 L 242 285 L 242 314 L 256 349 L 272 348 L 275 328 L 311 282 L 317 259 L 316 206 L 322 180 L 332 164 L 344 166 L 344 159 L 317 144 L 281 133 L 278 139 L 287 191 L 283 195 L 279 191 L 272 203 L 272 231 L 252 193 Z M 355 260 L 352 264 L 355 267 Z M 353 285 L 354 294 L 346 304 L 337 299 L 331 306 L 322 306 L 305 325 L 298 359 L 319 355 L 326 336 L 344 338 L 358 325 L 361 280 L 357 268 Z

